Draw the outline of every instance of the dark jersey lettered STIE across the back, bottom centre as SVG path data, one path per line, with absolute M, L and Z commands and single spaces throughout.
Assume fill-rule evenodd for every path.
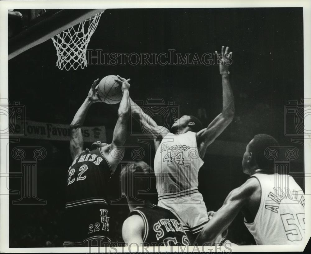
M 189 239 L 177 217 L 169 210 L 160 206 L 139 207 L 132 215 L 142 217 L 145 224 L 143 232 L 144 243 L 150 246 L 184 246 L 189 245 Z

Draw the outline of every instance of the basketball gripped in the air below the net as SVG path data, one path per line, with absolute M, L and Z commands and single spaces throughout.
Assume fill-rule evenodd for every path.
M 115 75 L 109 75 L 100 80 L 98 85 L 98 95 L 107 104 L 117 104 L 122 99 L 121 86 L 114 79 Z

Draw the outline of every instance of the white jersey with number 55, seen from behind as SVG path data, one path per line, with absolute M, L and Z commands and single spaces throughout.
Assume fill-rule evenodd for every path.
M 305 244 L 304 193 L 290 175 L 260 174 L 261 201 L 253 223 L 245 223 L 258 245 Z

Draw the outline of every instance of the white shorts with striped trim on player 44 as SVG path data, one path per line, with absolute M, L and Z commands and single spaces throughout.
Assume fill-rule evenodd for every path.
M 199 233 L 209 221 L 202 194 L 197 188 L 179 193 L 160 194 L 158 206 L 173 212 L 185 231 L 190 231 L 192 234 Z

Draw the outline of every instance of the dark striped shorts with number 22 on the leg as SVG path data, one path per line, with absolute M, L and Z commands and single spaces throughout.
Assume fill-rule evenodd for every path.
M 93 197 L 66 203 L 63 247 L 109 246 L 111 221 L 107 202 Z

